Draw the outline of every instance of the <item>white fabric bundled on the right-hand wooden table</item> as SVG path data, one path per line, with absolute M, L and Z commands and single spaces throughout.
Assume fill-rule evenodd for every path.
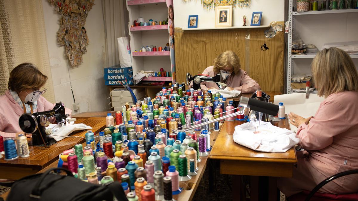
M 300 142 L 296 134 L 289 129 L 272 126 L 270 122 L 261 122 L 255 132 L 252 123 L 235 126 L 234 142 L 256 151 L 284 153 Z

